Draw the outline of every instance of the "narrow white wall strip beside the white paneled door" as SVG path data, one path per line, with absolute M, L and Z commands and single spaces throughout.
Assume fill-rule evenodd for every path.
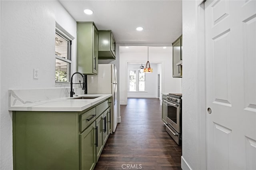
M 204 18 L 196 0 L 182 1 L 182 169 L 206 169 Z

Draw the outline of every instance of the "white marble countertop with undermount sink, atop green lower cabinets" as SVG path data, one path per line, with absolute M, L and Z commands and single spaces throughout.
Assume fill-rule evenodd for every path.
M 100 96 L 95 99 L 72 99 L 79 96 Z M 9 111 L 83 111 L 105 99 L 112 94 L 86 94 L 74 97 L 62 97 L 44 101 L 9 105 Z

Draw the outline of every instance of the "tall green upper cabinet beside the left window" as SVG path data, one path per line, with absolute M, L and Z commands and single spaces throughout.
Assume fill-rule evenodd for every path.
M 98 30 L 94 22 L 77 22 L 77 71 L 98 74 Z

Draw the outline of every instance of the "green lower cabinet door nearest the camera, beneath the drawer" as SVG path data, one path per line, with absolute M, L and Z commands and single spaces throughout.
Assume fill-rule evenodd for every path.
M 80 138 L 80 170 L 93 170 L 96 164 L 96 125 L 92 123 Z

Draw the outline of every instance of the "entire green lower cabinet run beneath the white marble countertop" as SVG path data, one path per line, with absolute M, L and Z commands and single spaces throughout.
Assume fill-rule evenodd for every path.
M 108 138 L 108 99 L 81 112 L 13 111 L 12 123 L 14 170 L 93 170 Z

